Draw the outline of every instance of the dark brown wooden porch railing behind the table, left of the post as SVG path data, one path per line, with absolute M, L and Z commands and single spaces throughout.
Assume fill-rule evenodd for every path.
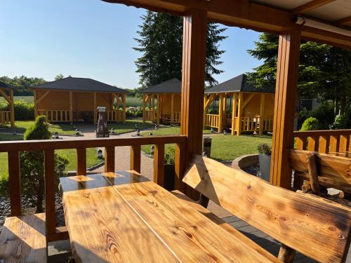
M 140 173 L 141 145 L 154 144 L 154 182 L 164 186 L 164 145 L 176 144 L 175 189 L 184 191 L 181 180 L 185 171 L 187 137 L 159 136 L 134 138 L 100 138 L 87 140 L 32 140 L 0 142 L 0 152 L 8 153 L 8 176 L 10 182 L 11 215 L 22 214 L 20 187 L 20 152 L 44 151 L 46 235 L 48 241 L 67 239 L 66 227 L 56 227 L 55 215 L 55 172 L 56 149 L 77 149 L 77 175 L 86 175 L 86 148 L 105 147 L 105 172 L 114 172 L 114 147 L 130 146 L 130 170 Z M 169 180 L 169 178 L 166 178 Z

